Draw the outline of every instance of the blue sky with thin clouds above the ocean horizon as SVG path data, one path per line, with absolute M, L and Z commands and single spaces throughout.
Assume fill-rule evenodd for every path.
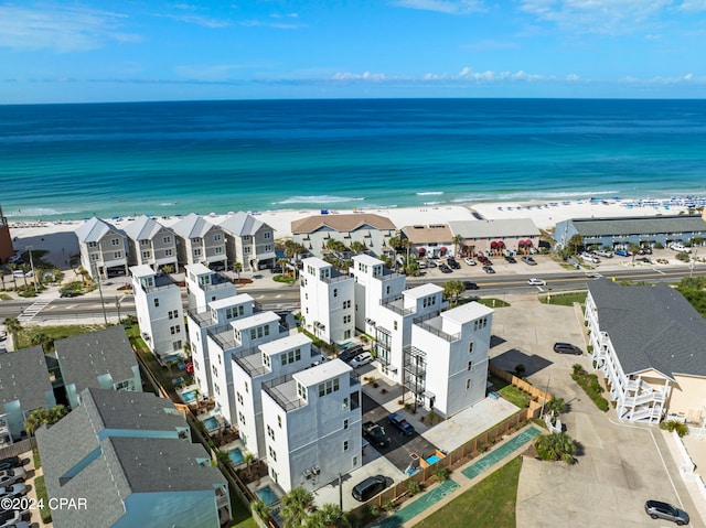
M 706 0 L 0 0 L 0 104 L 706 97 Z

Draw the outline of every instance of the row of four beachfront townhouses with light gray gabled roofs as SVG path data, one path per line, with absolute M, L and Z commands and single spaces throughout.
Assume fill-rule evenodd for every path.
M 92 277 L 127 274 L 129 266 L 174 271 L 192 263 L 226 269 L 239 262 L 255 271 L 275 263 L 275 231 L 254 216 L 238 212 L 220 224 L 190 214 L 167 227 L 140 216 L 124 229 L 93 217 L 76 228 L 81 263 Z

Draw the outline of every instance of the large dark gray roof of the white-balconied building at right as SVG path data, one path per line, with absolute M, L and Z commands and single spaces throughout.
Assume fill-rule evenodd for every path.
M 672 378 L 706 376 L 706 321 L 680 292 L 608 280 L 588 288 L 625 375 L 653 368 Z

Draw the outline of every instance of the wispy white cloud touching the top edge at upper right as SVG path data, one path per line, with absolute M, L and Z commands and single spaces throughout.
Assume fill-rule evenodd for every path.
M 521 0 L 520 3 L 521 10 L 564 31 L 606 34 L 634 32 L 674 7 L 674 0 Z

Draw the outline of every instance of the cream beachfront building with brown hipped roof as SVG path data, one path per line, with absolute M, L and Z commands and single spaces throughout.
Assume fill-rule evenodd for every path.
M 357 241 L 365 252 L 383 255 L 389 252 L 388 240 L 395 236 L 395 225 L 385 216 L 368 213 L 322 214 L 292 222 L 291 233 L 295 243 L 319 258 L 327 255 L 330 239 L 340 240 L 347 248 Z

